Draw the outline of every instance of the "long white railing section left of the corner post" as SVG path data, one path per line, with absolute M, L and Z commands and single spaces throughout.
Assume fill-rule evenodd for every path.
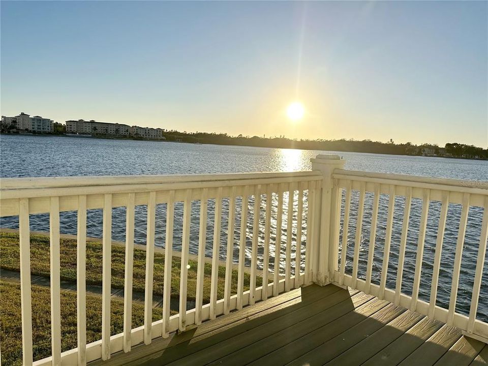
M 290 291 L 312 280 L 311 240 L 314 205 L 308 205 L 320 189 L 319 172 L 249 173 L 185 176 L 140 177 L 66 177 L 2 179 L 1 216 L 18 216 L 20 245 L 20 291 L 22 312 L 22 357 L 24 365 L 85 364 L 96 359 L 107 360 L 119 351 L 129 352 L 140 343 L 146 345 L 170 332 L 184 331 L 187 326 L 215 319 L 255 301 Z M 200 201 L 199 212 L 192 202 Z M 240 210 L 236 210 L 236 201 Z M 182 202 L 182 227 L 176 228 L 175 204 Z M 214 223 L 207 220 L 208 202 L 212 203 Z M 225 289 L 218 299 L 218 272 L 221 253 L 222 206 L 228 207 Z M 285 203 L 285 204 L 284 204 Z M 181 268 L 179 313 L 170 316 L 171 286 L 163 288 L 164 317 L 153 322 L 153 275 L 155 252 L 155 215 L 157 205 L 166 205 L 166 238 L 164 282 L 171 284 L 173 234 L 181 230 Z M 146 206 L 146 268 L 144 325 L 133 328 L 132 273 L 134 253 L 135 207 Z M 112 209 L 126 207 L 126 258 L 124 292 L 124 330 L 110 334 Z M 249 208 L 251 207 L 251 210 Z M 87 210 L 103 210 L 102 333 L 97 342 L 86 344 L 86 227 Z M 60 212 L 77 212 L 77 335 L 78 347 L 62 352 L 60 324 Z M 237 217 L 236 214 L 240 215 Z M 249 212 L 251 211 L 251 212 Z M 51 356 L 33 362 L 31 264 L 29 215 L 49 213 L 50 222 L 50 291 Z M 253 225 L 248 225 L 252 214 Z M 286 214 L 286 215 L 284 215 Z M 197 291 L 195 308 L 187 309 L 187 276 L 192 216 L 199 217 Z M 284 217 L 286 219 L 284 219 Z M 181 218 L 179 218 L 181 219 Z M 234 221 L 239 219 L 239 240 L 234 240 Z M 260 223 L 264 221 L 263 225 Z M 210 302 L 203 304 L 204 256 L 207 226 L 213 226 Z M 248 227 L 251 233 L 248 234 Z M 261 227 L 264 227 L 261 230 Z M 293 236 L 293 234 L 296 235 Z M 306 239 L 302 239 L 306 235 Z M 274 237 L 273 237 L 274 236 Z M 295 239 L 293 239 L 293 237 Z M 251 255 L 246 255 L 248 238 Z M 259 239 L 259 240 L 258 240 Z M 272 245 L 272 243 L 275 245 Z M 265 244 L 263 244 L 265 243 Z M 263 252 L 258 263 L 258 246 Z M 234 247 L 238 258 L 233 257 Z M 274 249 L 270 252 L 271 249 Z M 293 257 L 292 257 L 293 256 Z M 293 259 L 293 263 L 292 263 Z M 270 261 L 272 262 L 270 263 Z M 232 295 L 232 270 L 238 266 L 237 293 Z M 250 262 L 245 268 L 246 261 Z M 293 264 L 293 266 L 292 266 Z M 262 268 L 263 286 L 256 286 L 257 269 Z M 244 289 L 245 271 L 250 272 L 249 290 Z

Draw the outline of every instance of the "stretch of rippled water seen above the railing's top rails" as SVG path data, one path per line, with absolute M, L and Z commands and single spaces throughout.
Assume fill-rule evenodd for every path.
M 0 137 L 1 177 L 310 170 L 327 151 L 70 137 Z M 488 161 L 336 153 L 346 169 L 488 180 Z

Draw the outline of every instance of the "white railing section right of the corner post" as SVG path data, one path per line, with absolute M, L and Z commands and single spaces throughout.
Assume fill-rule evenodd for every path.
M 488 324 L 482 320 L 476 319 L 478 303 L 483 298 L 486 306 L 486 297 L 480 296 L 481 280 L 483 276 L 483 265 L 486 253 L 486 241 L 488 235 L 488 182 L 480 181 L 461 181 L 453 179 L 435 179 L 426 177 L 416 177 L 395 174 L 378 174 L 359 171 L 335 170 L 332 174 L 334 182 L 334 200 L 337 207 L 336 221 L 333 223 L 334 241 L 331 246 L 334 253 L 341 253 L 340 261 L 332 259 L 330 261 L 330 276 L 333 283 L 346 285 L 369 294 L 378 296 L 380 299 L 386 299 L 411 311 L 416 311 L 430 318 L 440 320 L 448 325 L 454 325 L 464 331 L 466 335 L 480 339 L 484 342 L 488 340 Z M 342 191 L 342 192 L 341 192 Z M 342 193 L 342 194 L 341 194 Z M 355 203 L 351 202 L 351 196 L 355 195 Z M 368 205 L 368 212 L 365 212 L 365 197 L 371 205 Z M 383 209 L 386 209 L 386 215 L 382 215 L 382 227 L 385 228 L 383 240 L 377 240 L 377 226 L 379 226 L 379 203 L 383 203 Z M 416 208 L 420 208 L 420 218 L 418 229 L 410 227 L 412 201 L 417 200 Z M 386 201 L 388 202 L 386 204 Z M 402 210 L 395 212 L 395 206 L 400 205 Z M 354 212 L 351 207 L 356 208 Z M 482 220 L 476 224 L 475 218 L 469 219 L 470 208 L 474 208 L 478 219 Z M 342 212 L 341 212 L 342 211 Z M 457 216 L 460 211 L 459 218 Z M 482 213 L 481 213 L 482 212 Z M 397 214 L 395 216 L 395 213 Z M 368 217 L 365 218 L 365 215 Z M 435 217 L 435 218 L 433 218 Z M 394 218 L 398 226 L 400 223 L 401 232 L 395 232 L 393 228 Z M 350 220 L 356 222 L 355 232 L 351 235 L 349 230 Z M 367 219 L 367 220 L 365 220 Z M 446 219 L 449 222 L 459 223 L 459 227 L 452 230 L 450 236 L 445 233 Z M 471 221 L 470 221 L 471 220 Z M 368 230 L 363 229 L 364 223 L 368 224 Z M 428 225 L 429 223 L 429 225 Z M 471 225 L 470 225 L 471 224 Z M 383 226 L 384 225 L 384 226 Z M 472 243 L 475 248 L 469 248 L 477 252 L 475 263 L 473 285 L 465 284 L 466 291 L 470 292 L 469 315 L 463 315 L 456 305 L 459 296 L 460 271 L 463 259 L 463 248 L 465 247 L 465 234 L 467 227 L 470 226 L 479 230 L 473 232 L 477 236 L 476 242 Z M 426 242 L 426 232 L 428 227 L 434 231 L 436 237 L 435 246 L 431 249 L 434 251 L 434 258 L 431 264 L 426 265 L 424 258 L 424 245 Z M 451 228 L 452 229 L 452 228 Z M 364 235 L 364 234 L 370 235 Z M 341 239 L 339 240 L 339 234 Z M 394 235 L 396 234 L 396 235 Z M 410 249 L 414 255 L 406 254 L 407 236 L 418 234 L 416 240 L 410 243 Z M 361 239 L 367 236 L 367 239 Z M 391 263 L 392 236 L 397 240 L 394 247 L 398 251 L 398 260 Z M 413 240 L 410 240 L 413 241 Z M 441 264 L 442 251 L 446 248 L 443 244 L 447 241 L 455 242 L 455 254 L 453 260 L 449 256 L 444 256 Z M 473 240 L 472 240 L 473 241 Z M 368 256 L 363 261 L 365 268 L 358 273 L 360 261 L 360 251 L 366 251 L 366 246 L 361 248 L 361 242 L 368 243 Z M 353 247 L 352 253 L 348 249 Z M 380 268 L 374 273 L 373 264 L 374 255 L 380 255 L 382 258 Z M 395 255 L 397 252 L 395 252 Z M 408 263 L 407 263 L 408 261 Z M 464 261 L 467 261 L 464 258 Z M 346 265 L 349 262 L 349 265 Z M 413 279 L 411 286 L 405 288 L 404 269 L 406 265 L 414 266 L 412 270 Z M 468 263 L 474 264 L 474 263 Z M 349 267 L 349 273 L 346 273 L 346 267 Z M 439 271 L 444 269 L 446 273 L 451 271 L 449 301 L 439 303 Z M 412 268 L 413 269 L 413 268 Z M 396 271 L 396 273 L 395 273 Z M 372 276 L 376 275 L 377 283 L 373 283 Z M 419 289 L 421 287 L 421 278 L 431 278 L 425 281 L 424 299 L 419 299 Z M 467 276 L 465 276 L 467 277 Z M 387 278 L 389 281 L 387 281 Z M 466 279 L 465 279 L 466 281 Z M 464 294 L 468 296 L 468 294 Z M 458 306 L 459 307 L 459 306 Z M 484 319 L 488 314 L 484 314 Z

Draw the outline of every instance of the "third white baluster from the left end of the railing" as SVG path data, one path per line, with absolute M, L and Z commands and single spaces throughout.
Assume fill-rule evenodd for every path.
M 78 197 L 76 246 L 76 318 L 78 366 L 86 364 L 86 196 Z

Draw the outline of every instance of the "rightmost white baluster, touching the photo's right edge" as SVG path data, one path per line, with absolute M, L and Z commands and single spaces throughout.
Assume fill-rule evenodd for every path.
M 468 333 L 473 333 L 474 321 L 478 310 L 479 289 L 483 276 L 483 263 L 486 255 L 486 240 L 488 240 L 488 197 L 484 199 L 483 222 L 481 223 L 481 233 L 479 236 L 478 259 L 476 261 L 476 271 L 474 275 L 473 292 L 471 295 L 471 308 L 469 309 Z

